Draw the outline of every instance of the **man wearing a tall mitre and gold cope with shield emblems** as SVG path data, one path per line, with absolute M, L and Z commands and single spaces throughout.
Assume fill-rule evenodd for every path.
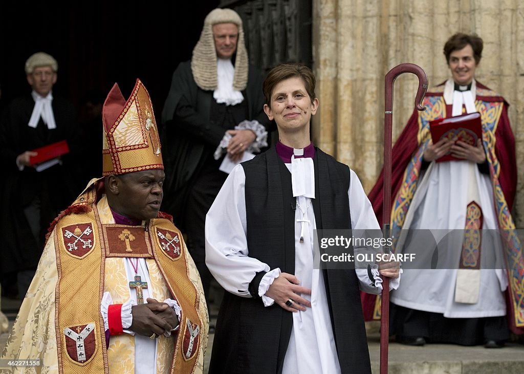
M 208 312 L 171 217 L 155 115 L 137 80 L 103 107 L 103 174 L 52 223 L 2 358 L 49 372 L 202 372 Z

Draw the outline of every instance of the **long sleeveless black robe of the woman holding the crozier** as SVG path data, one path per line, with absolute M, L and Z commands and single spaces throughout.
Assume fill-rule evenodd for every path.
M 317 229 L 350 229 L 347 191 L 350 169 L 316 148 L 315 199 Z M 294 274 L 294 211 L 291 173 L 275 148 L 242 163 L 249 256 Z M 271 214 L 268 214 L 268 213 Z M 353 248 L 351 248 L 352 250 Z M 274 304 L 265 307 L 258 285 L 253 298 L 225 292 L 213 340 L 210 373 L 280 373 L 293 324 L 292 313 Z M 358 278 L 355 270 L 323 270 L 331 326 L 343 373 L 371 372 Z

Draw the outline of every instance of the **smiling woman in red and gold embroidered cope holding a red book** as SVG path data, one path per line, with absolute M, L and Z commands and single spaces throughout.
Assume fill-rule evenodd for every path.
M 517 179 L 515 139 L 507 102 L 475 80 L 482 49 L 476 35 L 447 40 L 444 54 L 452 78 L 429 90 L 423 103 L 427 109 L 413 112 L 393 149 L 392 236 L 401 228 L 403 233 L 431 229 L 436 236 L 456 230 L 436 252 L 428 243 L 403 244 L 417 256 L 430 252 L 438 268 L 405 268 L 402 284 L 392 292 L 391 332 L 401 343 L 501 347 L 508 326 L 524 332 L 524 261 L 510 214 Z M 481 113 L 482 140 L 468 145 L 443 137 L 433 144 L 431 120 L 475 112 Z M 438 161 L 447 154 L 455 160 Z M 369 193 L 379 220 L 382 185 L 381 174 Z M 498 229 L 500 236 L 486 240 Z M 444 257 L 431 255 L 444 255 L 441 249 L 450 256 L 444 268 Z M 364 298 L 367 319 L 379 318 L 379 303 Z

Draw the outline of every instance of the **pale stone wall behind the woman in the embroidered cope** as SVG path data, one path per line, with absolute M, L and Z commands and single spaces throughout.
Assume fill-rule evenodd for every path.
M 524 228 L 524 2 L 521 0 L 313 0 L 313 68 L 320 100 L 313 139 L 349 164 L 368 192 L 383 163 L 384 75 L 412 62 L 436 85 L 451 76 L 442 52 L 455 32 L 484 40 L 476 79 L 510 103 Z M 413 111 L 417 78 L 395 83 L 393 139 Z

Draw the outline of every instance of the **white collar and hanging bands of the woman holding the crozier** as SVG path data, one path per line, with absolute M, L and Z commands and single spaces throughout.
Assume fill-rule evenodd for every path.
M 291 156 L 291 186 L 293 196 L 315 197 L 315 168 L 313 159 L 310 157 L 295 158 L 303 156 L 304 149 L 293 148 Z

